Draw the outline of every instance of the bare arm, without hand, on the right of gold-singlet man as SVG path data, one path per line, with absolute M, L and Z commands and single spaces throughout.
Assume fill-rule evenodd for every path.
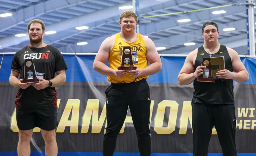
M 156 74 L 157 72 L 161 71 L 162 69 L 162 62 L 160 59 L 160 56 L 156 50 L 156 46 L 154 42 L 147 38 L 144 37 L 144 42 L 147 46 L 147 52 L 146 52 L 146 57 L 150 63 L 150 65 L 146 68 L 140 69 L 140 76 L 148 76 L 148 75 L 153 75 Z

